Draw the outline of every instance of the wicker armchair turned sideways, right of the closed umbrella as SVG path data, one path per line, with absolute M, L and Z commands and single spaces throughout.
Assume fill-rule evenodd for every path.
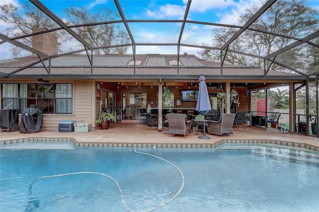
M 214 135 L 233 133 L 235 113 L 221 114 L 218 121 L 207 120 L 208 132 Z

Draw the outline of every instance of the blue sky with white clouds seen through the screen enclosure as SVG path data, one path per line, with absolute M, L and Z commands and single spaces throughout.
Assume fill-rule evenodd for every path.
M 29 3 L 26 0 L 1 0 L 0 4 L 13 3 L 18 6 L 21 15 L 21 4 Z M 60 19 L 69 20 L 63 11 L 65 8 L 85 7 L 89 12 L 94 12 L 101 7 L 108 7 L 117 11 L 113 0 L 40 0 L 40 2 L 54 12 Z M 181 20 L 187 0 L 119 0 L 127 20 Z M 192 0 L 188 20 L 224 23 L 238 25 L 238 17 L 253 4 L 259 4 L 260 0 Z M 319 0 L 308 0 L 309 5 L 319 9 Z M 259 4 L 259 7 L 261 5 Z M 176 43 L 179 37 L 181 23 L 129 23 L 136 43 Z M 6 35 L 6 28 L 10 27 L 0 20 L 0 32 Z M 123 24 L 121 27 L 125 27 Z M 211 45 L 212 26 L 202 24 L 186 24 L 181 43 L 191 45 Z M 70 41 L 64 44 L 64 50 L 77 46 L 79 42 Z M 11 58 L 8 48 L 11 44 L 0 45 L 0 60 Z M 83 48 L 83 47 L 82 47 Z M 180 54 L 197 54 L 201 49 L 181 47 Z M 137 54 L 176 54 L 176 46 L 137 46 Z M 132 54 L 129 49 L 128 54 Z

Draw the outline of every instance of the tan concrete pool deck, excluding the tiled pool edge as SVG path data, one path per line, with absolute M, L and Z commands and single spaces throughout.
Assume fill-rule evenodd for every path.
M 278 129 L 256 126 L 239 126 L 233 127 L 233 134 L 229 136 L 216 136 L 206 133 L 210 139 L 200 139 L 191 132 L 190 135 L 174 135 L 168 134 L 166 131 L 158 132 L 157 127 L 140 125 L 138 122 L 122 122 L 111 123 L 109 129 L 97 129 L 91 132 L 58 132 L 58 131 L 41 131 L 37 133 L 19 133 L 18 131 L 0 133 L 0 141 L 15 140 L 21 138 L 73 138 L 77 142 L 94 142 L 94 143 L 161 143 L 161 144 L 214 144 L 224 139 L 228 140 L 277 140 L 295 143 L 309 144 L 319 147 L 319 138 L 313 136 L 305 136 L 302 134 L 280 132 Z

